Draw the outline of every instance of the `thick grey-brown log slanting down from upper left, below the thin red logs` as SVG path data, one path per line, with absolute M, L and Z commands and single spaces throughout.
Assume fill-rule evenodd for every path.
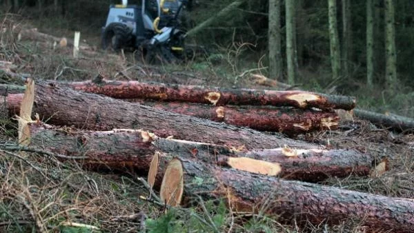
M 112 130 L 114 128 L 144 129 L 161 137 L 251 148 L 315 148 L 317 145 L 288 139 L 280 134 L 263 134 L 157 110 L 139 103 L 128 103 L 97 94 L 77 92 L 59 84 L 39 81 L 36 86 L 34 112 L 47 123 L 75 125 L 81 129 Z

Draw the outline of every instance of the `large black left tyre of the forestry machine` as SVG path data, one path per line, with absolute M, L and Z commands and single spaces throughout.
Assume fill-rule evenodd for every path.
M 119 51 L 130 46 L 132 43 L 132 29 L 123 23 L 110 23 L 103 31 L 102 48 L 103 50 Z

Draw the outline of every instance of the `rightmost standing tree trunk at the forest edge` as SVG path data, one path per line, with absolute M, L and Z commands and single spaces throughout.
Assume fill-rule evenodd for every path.
M 395 10 L 393 0 L 385 2 L 385 57 L 386 84 L 393 86 L 397 81 L 397 54 L 395 50 Z

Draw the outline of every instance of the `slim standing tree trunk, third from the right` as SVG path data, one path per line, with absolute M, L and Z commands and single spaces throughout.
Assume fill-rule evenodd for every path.
M 351 0 L 342 0 L 342 72 L 348 76 L 353 60 Z

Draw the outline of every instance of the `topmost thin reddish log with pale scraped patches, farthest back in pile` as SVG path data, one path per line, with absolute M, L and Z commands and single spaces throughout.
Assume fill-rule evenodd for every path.
M 151 99 L 210 105 L 273 105 L 296 108 L 340 108 L 351 110 L 355 97 L 317 94 L 304 91 L 275 91 L 204 88 L 197 85 L 108 81 L 95 79 L 68 83 L 75 90 L 104 94 L 116 99 Z

